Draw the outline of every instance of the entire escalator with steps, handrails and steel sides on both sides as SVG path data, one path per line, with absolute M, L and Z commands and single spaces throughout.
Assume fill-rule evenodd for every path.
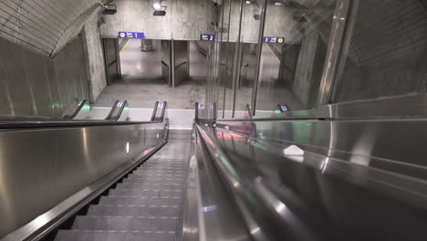
M 380 121 L 215 120 L 196 103 L 184 131 L 169 129 L 166 106 L 148 122 L 0 123 L 0 241 L 427 236 L 424 168 L 342 153 Z M 408 121 L 381 124 L 387 146 Z

